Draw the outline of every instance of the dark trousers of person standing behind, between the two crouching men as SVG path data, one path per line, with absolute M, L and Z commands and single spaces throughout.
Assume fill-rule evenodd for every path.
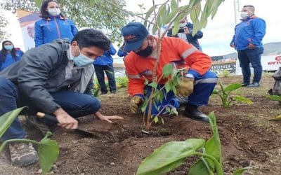
M 100 91 L 103 93 L 107 93 L 107 89 L 105 86 L 105 73 L 108 78 L 108 85 L 110 87 L 110 92 L 116 91 L 116 82 L 115 82 L 115 73 L 112 64 L 109 65 L 93 65 L 95 66 L 96 75 L 98 78 L 98 83 L 100 84 Z

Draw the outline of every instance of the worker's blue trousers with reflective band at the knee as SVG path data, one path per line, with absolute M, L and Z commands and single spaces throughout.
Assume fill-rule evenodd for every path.
M 186 97 L 186 104 L 193 104 L 195 106 L 207 105 L 209 102 L 209 97 L 211 96 L 211 93 L 213 92 L 214 87 L 216 86 L 217 80 L 218 77 L 216 76 L 216 73 L 212 71 L 207 71 L 207 73 L 205 73 L 203 76 L 195 78 L 193 92 L 188 97 Z M 162 86 L 158 88 L 161 87 Z M 146 87 L 146 90 L 147 93 L 145 93 L 145 96 L 149 97 L 151 87 Z M 159 111 L 161 111 L 167 104 L 174 106 L 176 109 L 178 109 L 179 102 L 174 92 L 170 91 L 166 93 L 166 91 L 164 90 L 164 94 L 166 95 L 162 102 L 155 102 L 155 104 L 152 105 L 152 115 L 157 115 L 157 113 L 159 113 Z M 163 110 L 162 113 L 164 112 L 166 111 Z

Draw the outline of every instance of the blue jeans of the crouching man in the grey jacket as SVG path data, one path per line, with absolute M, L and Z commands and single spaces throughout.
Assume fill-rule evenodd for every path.
M 100 101 L 88 94 L 60 91 L 53 92 L 51 95 L 54 102 L 59 104 L 73 118 L 87 116 L 96 113 L 100 109 Z M 28 97 L 23 96 L 14 83 L 0 77 L 0 116 L 22 106 L 28 106 L 28 109 L 24 109 L 21 115 L 35 115 L 37 112 L 42 111 L 32 104 Z M 25 130 L 18 118 L 16 118 L 0 139 L 4 141 L 7 139 L 22 139 L 25 135 Z

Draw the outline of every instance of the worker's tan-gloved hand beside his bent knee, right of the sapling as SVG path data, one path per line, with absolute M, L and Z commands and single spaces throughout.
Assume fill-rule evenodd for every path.
M 176 94 L 178 96 L 188 96 L 193 92 L 194 78 L 183 77 L 181 84 L 176 86 Z

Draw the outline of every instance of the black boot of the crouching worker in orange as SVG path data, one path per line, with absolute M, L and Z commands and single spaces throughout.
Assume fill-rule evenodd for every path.
M 209 123 L 209 117 L 199 111 L 198 106 L 187 104 L 185 107 L 185 111 L 183 113 L 188 118 L 192 118 L 194 120 L 199 120 L 204 123 Z

